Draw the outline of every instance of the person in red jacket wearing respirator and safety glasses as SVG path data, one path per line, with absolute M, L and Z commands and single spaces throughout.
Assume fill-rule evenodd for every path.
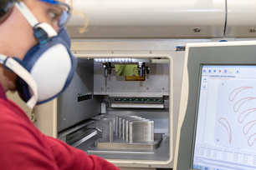
M 28 107 L 57 97 L 72 79 L 76 58 L 65 29 L 70 7 L 55 0 L 0 2 L 0 169 L 119 169 L 34 127 L 5 92 Z

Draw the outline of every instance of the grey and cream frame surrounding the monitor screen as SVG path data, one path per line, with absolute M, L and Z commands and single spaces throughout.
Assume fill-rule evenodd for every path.
M 179 132 L 177 132 L 178 144 L 174 163 L 174 169 L 177 170 L 194 169 L 192 161 L 194 157 L 195 135 L 197 130 L 197 113 L 200 97 L 202 66 L 256 66 L 255 41 L 187 44 L 186 48 L 185 61 L 187 61 L 187 63 L 184 64 L 185 74 L 183 74 L 183 79 L 188 79 L 189 83 L 187 83 L 187 85 L 189 84 L 189 89 L 187 97 L 182 97 L 181 99 L 181 106 L 182 102 L 183 104 L 184 102 L 187 102 L 187 108 L 185 109 L 185 112 L 180 112 L 181 115 L 179 117 L 180 126 L 178 128 L 180 129 L 178 130 Z M 187 77 L 186 72 L 188 72 Z M 186 83 L 186 81 L 184 81 L 184 83 Z M 185 86 L 182 85 L 182 88 L 183 87 Z M 196 102 L 192 102 L 192 97 L 194 99 L 196 98 Z M 182 110 L 181 107 L 180 110 Z

